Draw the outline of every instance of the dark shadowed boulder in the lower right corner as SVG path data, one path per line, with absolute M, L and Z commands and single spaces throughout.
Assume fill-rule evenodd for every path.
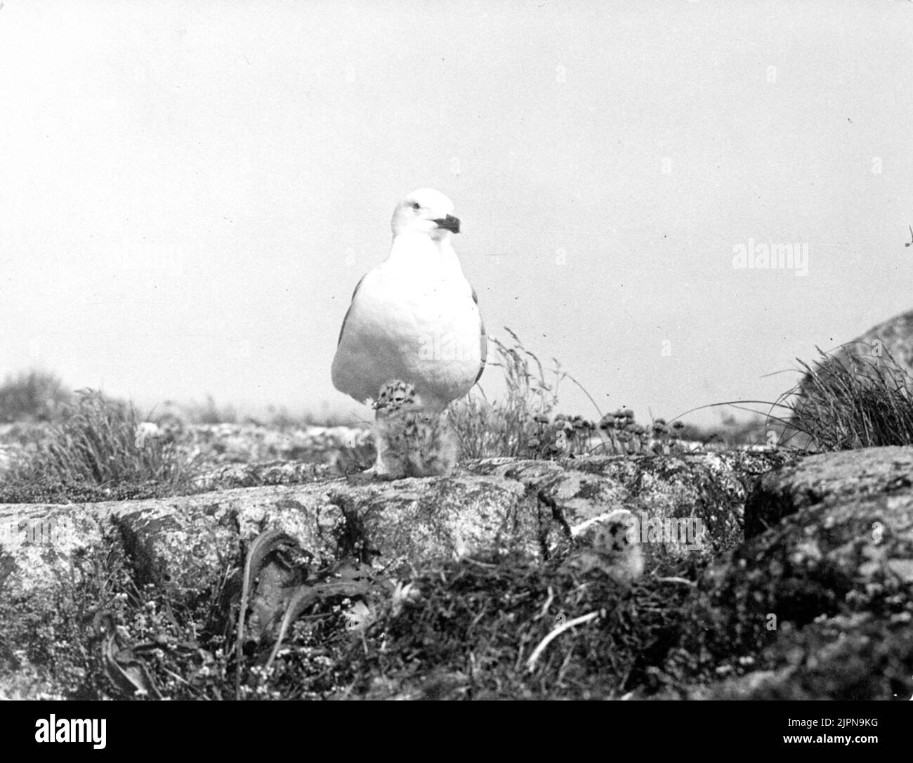
M 754 655 L 769 673 L 702 695 L 887 699 L 909 684 L 911 464 L 913 448 L 873 448 L 761 479 L 746 511 L 753 537 L 701 588 L 716 647 Z

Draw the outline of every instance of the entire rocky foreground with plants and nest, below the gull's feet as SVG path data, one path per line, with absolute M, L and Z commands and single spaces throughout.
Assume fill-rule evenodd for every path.
M 381 582 L 354 604 L 309 610 L 268 661 L 247 643 L 245 660 L 269 674 L 245 673 L 232 695 L 913 692 L 913 448 L 489 459 L 396 482 L 258 469 L 216 475 L 214 487 L 277 469 L 288 479 L 163 500 L 0 505 L 0 694 L 131 695 L 139 684 L 119 688 L 110 669 L 111 654 L 129 652 L 157 679 L 153 695 L 226 696 L 239 670 L 226 637 L 237 580 L 270 530 L 308 560 L 301 571 L 277 551 L 281 586 L 341 560 Z M 604 545 L 619 513 L 639 548 L 627 574 Z

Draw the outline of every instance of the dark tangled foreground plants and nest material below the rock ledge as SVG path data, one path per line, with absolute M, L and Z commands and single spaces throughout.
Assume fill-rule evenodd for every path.
M 254 546 L 249 554 L 255 556 Z M 243 596 L 245 560 L 226 558 L 212 588 L 178 592 L 161 580 L 140 585 L 137 560 L 113 532 L 99 548 L 74 557 L 78 573 L 56 587 L 68 595 L 0 600 L 5 641 L 21 646 L 11 657 L 15 669 L 7 672 L 5 693 L 39 698 L 46 687 L 65 699 L 582 699 L 656 694 L 686 679 L 713 678 L 719 660 L 692 656 L 701 650 L 687 642 L 706 631 L 707 615 L 696 606 L 694 589 L 676 582 L 698 574 L 693 560 L 666 560 L 657 576 L 631 590 L 599 570 L 578 573 L 557 560 L 480 561 L 423 567 L 411 587 L 395 591 L 394 581 L 378 579 L 365 598 L 333 595 L 325 586 L 327 595 L 312 597 L 275 661 L 266 658 L 278 622 L 265 628 L 247 620 L 239 674 L 233 605 Z M 284 549 L 260 558 L 260 565 L 271 570 L 260 585 L 274 588 L 288 586 L 299 570 L 299 560 Z M 352 560 L 336 567 L 343 581 L 347 568 L 361 568 Z M 316 590 L 320 575 L 312 572 L 317 577 L 303 582 Z M 308 588 L 301 582 L 298 588 Z M 281 603 L 264 596 L 258 606 Z M 541 652 L 534 673 L 526 669 L 559 618 L 586 615 L 596 620 Z M 257 628 L 269 637 L 255 638 Z M 476 663 L 484 669 L 467 671 Z

